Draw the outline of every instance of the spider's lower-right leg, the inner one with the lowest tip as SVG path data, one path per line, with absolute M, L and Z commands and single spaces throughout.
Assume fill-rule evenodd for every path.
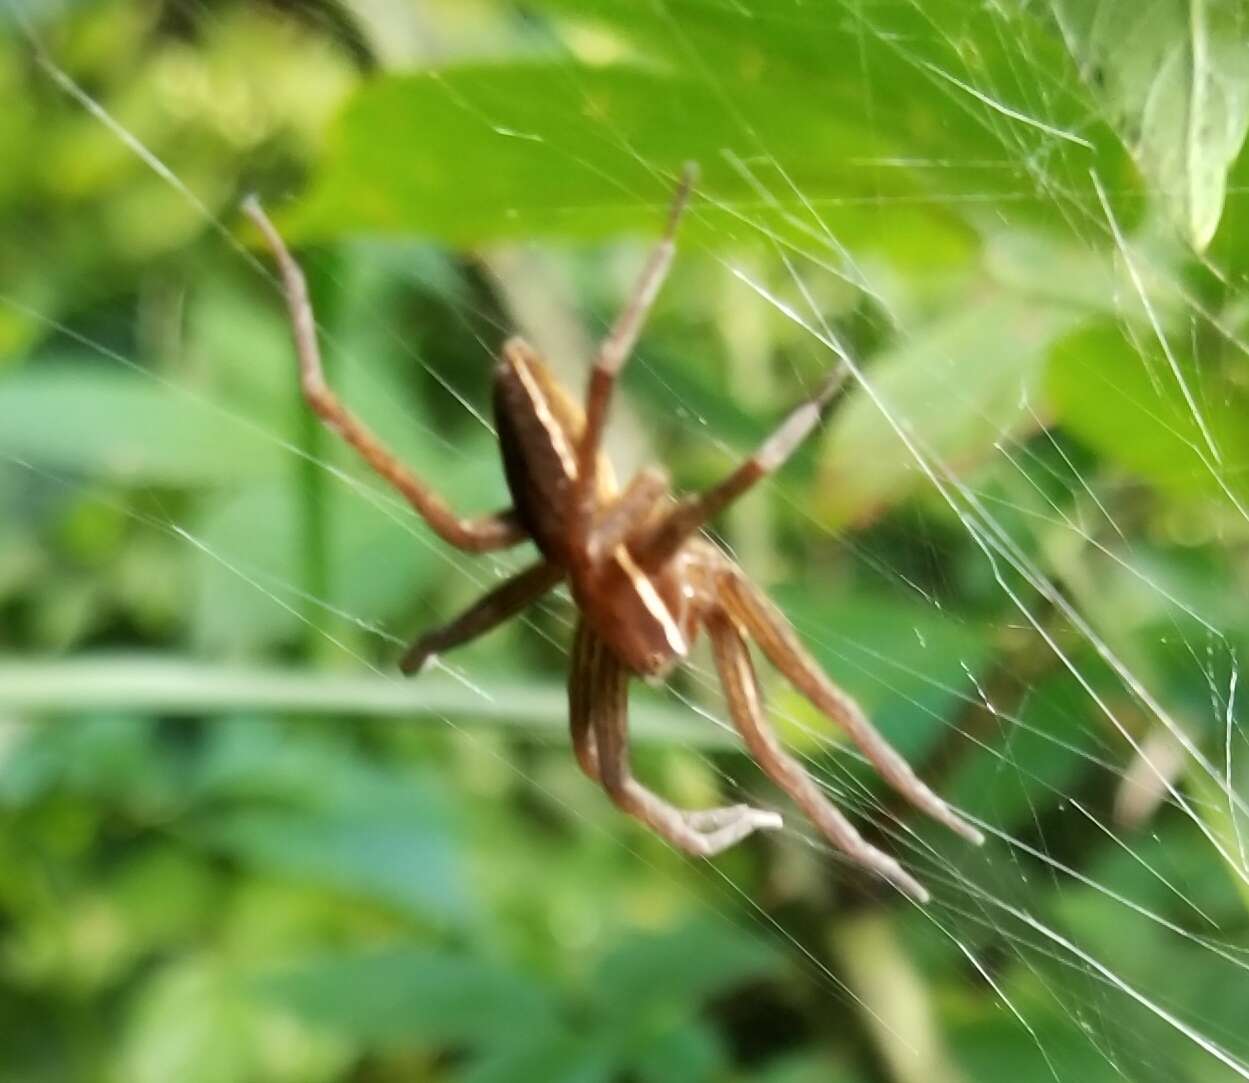
M 741 731 L 747 748 L 768 776 L 788 793 L 811 821 L 838 849 L 864 868 L 896 884 L 919 903 L 928 902 L 928 892 L 894 858 L 877 849 L 833 806 L 777 741 L 764 721 L 759 702 L 759 686 L 746 640 L 723 612 L 708 615 L 707 633 L 716 656 L 716 668 L 724 685 L 729 712 Z

